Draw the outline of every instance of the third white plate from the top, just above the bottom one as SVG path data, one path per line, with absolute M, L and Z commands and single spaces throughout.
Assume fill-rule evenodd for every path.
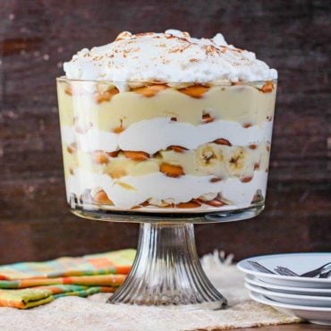
M 245 283 L 245 287 L 255 293 L 263 294 L 267 299 L 273 301 L 300 306 L 329 307 L 331 309 L 331 297 L 276 293 L 247 283 Z

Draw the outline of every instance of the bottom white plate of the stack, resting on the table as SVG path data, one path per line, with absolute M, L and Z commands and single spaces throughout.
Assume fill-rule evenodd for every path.
M 267 299 L 262 294 L 250 292 L 250 298 L 268 304 L 276 310 L 310 321 L 310 323 L 331 325 L 331 308 L 298 306 Z

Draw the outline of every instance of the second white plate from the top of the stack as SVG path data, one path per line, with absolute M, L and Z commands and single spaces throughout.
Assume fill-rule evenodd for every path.
M 331 289 L 327 288 L 310 288 L 310 287 L 294 287 L 294 286 L 284 286 L 278 284 L 266 283 L 259 278 L 252 275 L 247 275 L 245 277 L 245 282 L 255 286 L 265 288 L 269 291 L 274 291 L 278 293 L 290 293 L 290 294 L 300 294 L 300 295 L 318 295 L 318 296 L 329 296 L 331 297 Z

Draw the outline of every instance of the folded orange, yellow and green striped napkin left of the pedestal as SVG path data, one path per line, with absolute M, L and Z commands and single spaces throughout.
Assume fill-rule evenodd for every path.
M 21 262 L 0 267 L 0 306 L 27 309 L 58 297 L 115 292 L 136 251 L 116 250 L 79 258 Z

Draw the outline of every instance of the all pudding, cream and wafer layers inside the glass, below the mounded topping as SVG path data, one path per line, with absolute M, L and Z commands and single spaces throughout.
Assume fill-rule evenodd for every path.
M 130 85 L 129 85 L 130 86 Z M 67 199 L 153 212 L 247 208 L 265 198 L 275 82 L 58 81 Z

